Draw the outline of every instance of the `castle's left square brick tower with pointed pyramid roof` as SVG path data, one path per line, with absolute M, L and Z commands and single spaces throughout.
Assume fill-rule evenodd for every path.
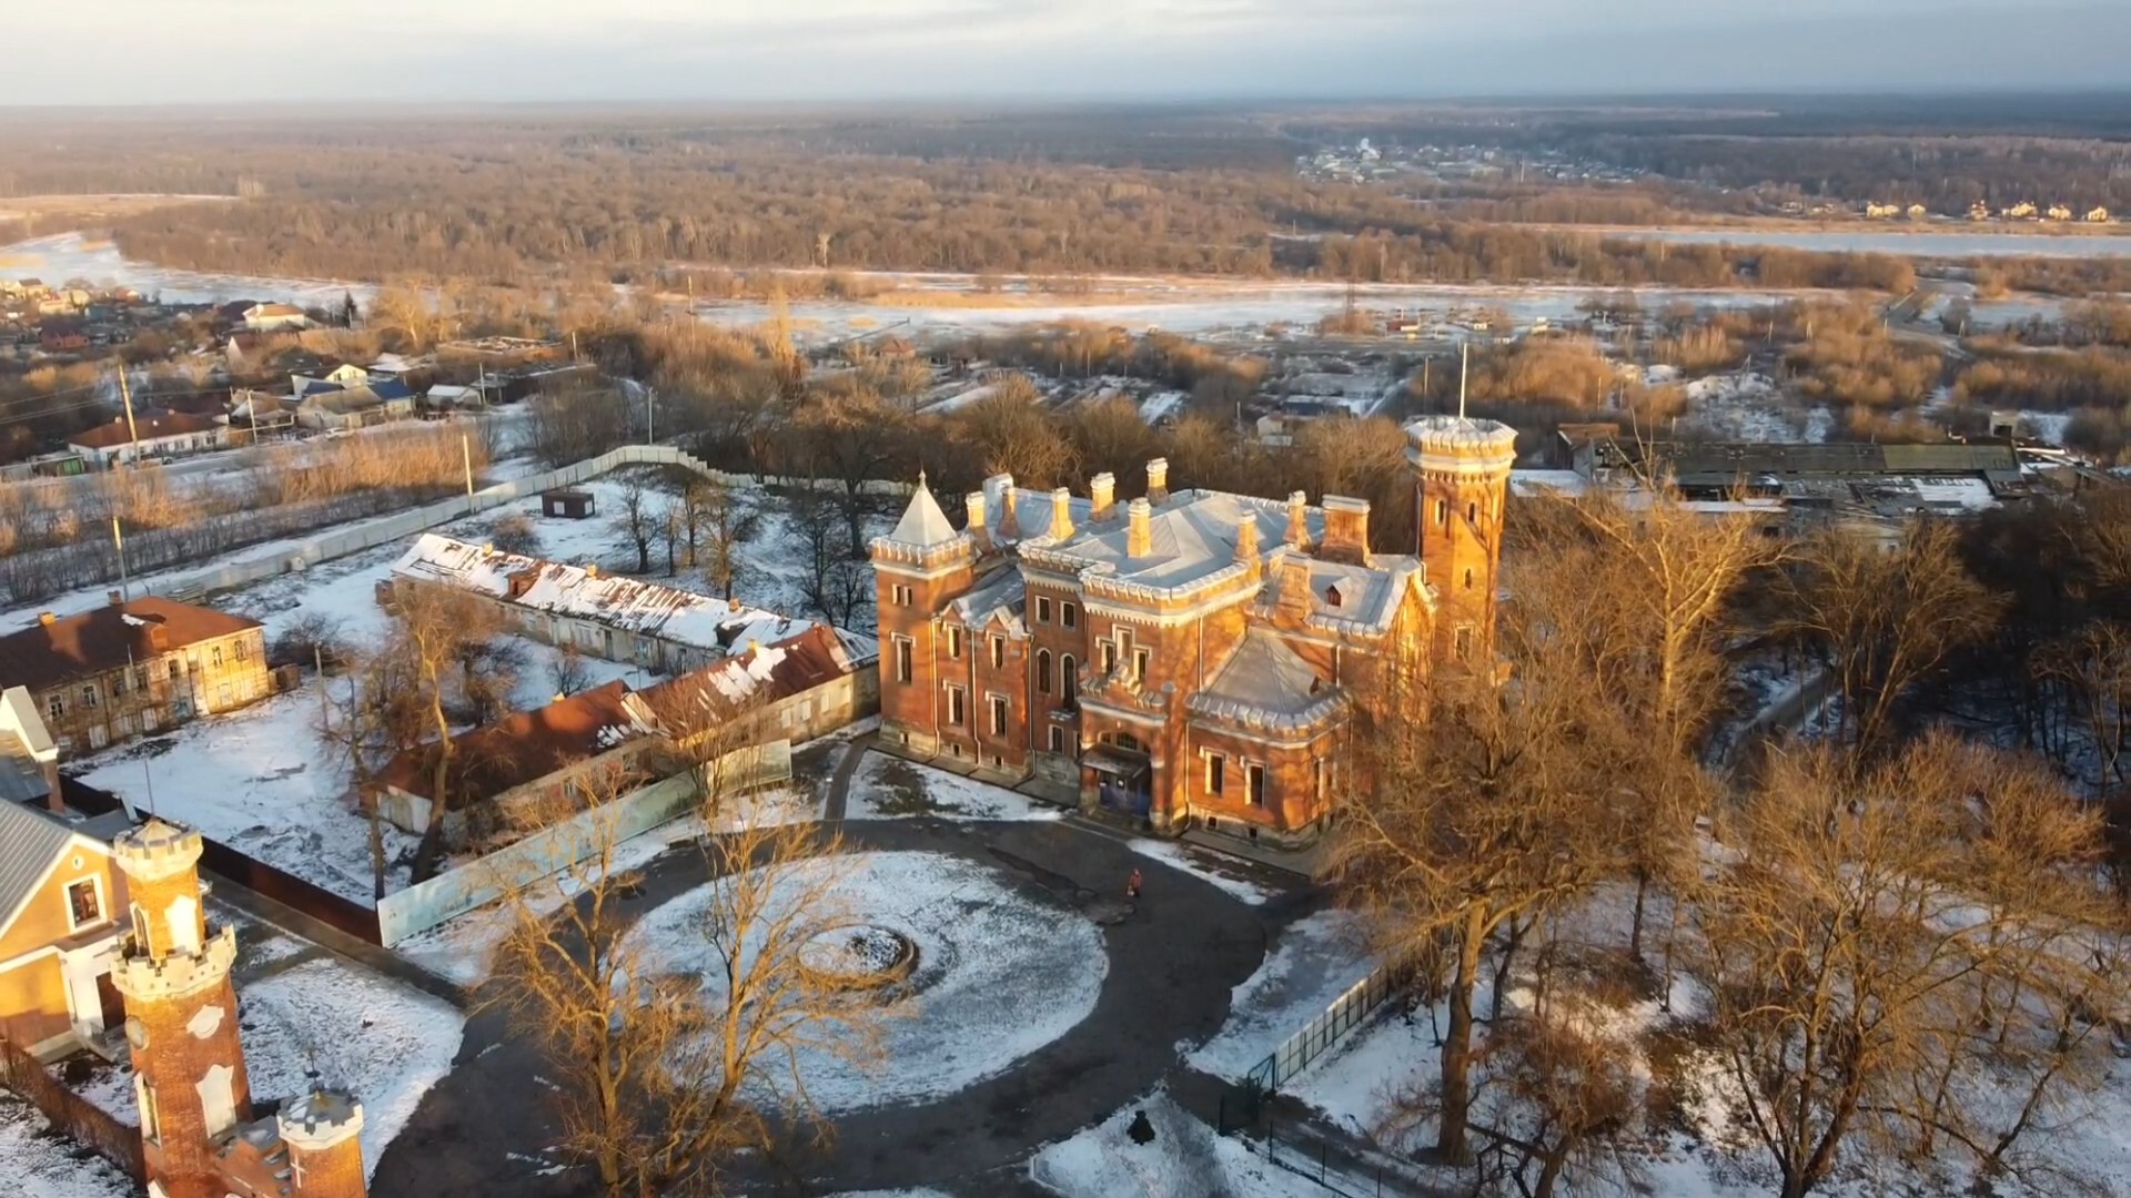
M 1008 490 L 1008 509 L 1012 492 Z M 982 505 L 972 497 L 972 518 Z M 933 616 L 976 584 L 976 535 L 957 533 L 925 475 L 895 531 L 874 539 L 880 616 L 880 731 L 918 752 L 938 750 L 940 663 Z

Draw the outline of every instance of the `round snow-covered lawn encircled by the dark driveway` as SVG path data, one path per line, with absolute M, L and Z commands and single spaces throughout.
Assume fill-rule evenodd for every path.
M 1074 1030 L 1095 1010 L 1108 972 L 1087 919 L 1040 904 L 997 872 L 944 853 L 857 853 L 806 870 L 846 870 L 835 904 L 912 938 L 916 972 L 884 1006 L 876 1068 L 831 1051 L 801 1051 L 799 1074 L 823 1111 L 923 1102 L 967 1089 Z M 716 1002 L 718 966 L 701 936 L 714 885 L 652 910 L 631 944 L 652 968 L 703 978 Z M 897 998 L 899 995 L 899 998 Z

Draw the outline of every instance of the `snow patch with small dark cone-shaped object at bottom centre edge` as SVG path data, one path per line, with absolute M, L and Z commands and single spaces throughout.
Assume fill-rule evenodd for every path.
M 1153 1140 L 1132 1136 L 1146 1115 Z M 1164 1091 L 1127 1104 L 1102 1123 L 1044 1147 L 1029 1179 L 1063 1198 L 1332 1198 L 1336 1192 L 1217 1136 Z

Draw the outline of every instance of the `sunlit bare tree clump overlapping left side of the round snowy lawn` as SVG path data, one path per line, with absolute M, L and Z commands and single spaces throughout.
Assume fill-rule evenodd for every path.
M 869 1057 L 882 1010 L 823 985 L 803 961 L 852 921 L 837 840 L 812 825 L 710 840 L 707 968 L 676 974 L 629 936 L 633 878 L 616 870 L 612 823 L 595 827 L 588 859 L 511 893 L 505 985 L 494 989 L 511 1027 L 548 1055 L 565 1151 L 597 1170 L 609 1198 L 650 1198 L 716 1194 L 722 1168 L 774 1147 L 780 1128 L 825 1138 L 806 1062 Z

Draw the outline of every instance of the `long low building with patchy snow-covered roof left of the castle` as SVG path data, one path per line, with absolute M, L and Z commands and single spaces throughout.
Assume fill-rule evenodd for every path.
M 392 565 L 379 599 L 401 586 L 454 586 L 488 597 L 516 631 L 552 646 L 575 646 L 603 661 L 658 674 L 686 674 L 788 640 L 812 620 L 742 608 L 693 590 L 616 578 L 597 565 L 563 565 L 422 533 Z

